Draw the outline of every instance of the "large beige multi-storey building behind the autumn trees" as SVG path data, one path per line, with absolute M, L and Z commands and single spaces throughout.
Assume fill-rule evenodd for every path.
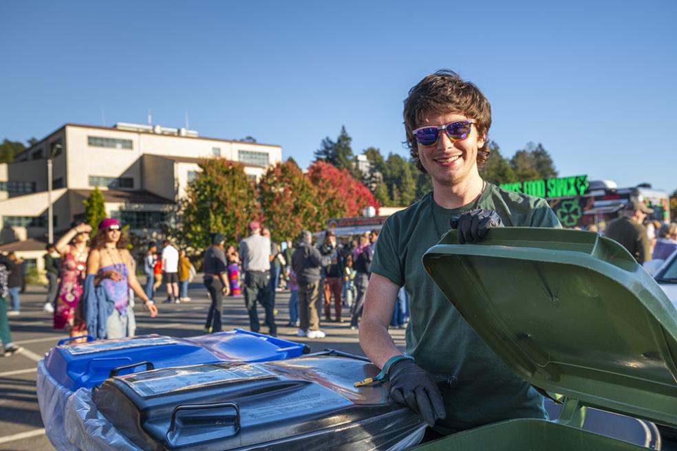
M 83 217 L 83 200 L 96 186 L 109 216 L 147 234 L 159 230 L 166 212 L 185 194 L 201 159 L 241 162 L 252 179 L 259 179 L 281 161 L 282 148 L 159 125 L 65 124 L 14 162 L 0 164 L 0 244 L 47 236 L 48 155 L 54 162 L 54 236 Z

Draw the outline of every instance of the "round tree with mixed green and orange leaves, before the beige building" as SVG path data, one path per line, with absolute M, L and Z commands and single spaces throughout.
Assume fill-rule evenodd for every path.
M 249 221 L 261 219 L 254 184 L 238 162 L 204 159 L 200 168 L 180 201 L 176 221 L 180 225 L 169 233 L 195 249 L 206 248 L 213 232 L 237 243 Z

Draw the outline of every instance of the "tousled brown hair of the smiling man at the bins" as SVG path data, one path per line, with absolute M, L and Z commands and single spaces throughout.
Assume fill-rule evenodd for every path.
M 491 153 L 486 139 L 491 126 L 491 104 L 480 88 L 445 69 L 425 76 L 418 85 L 409 89 L 404 111 L 407 146 L 411 158 L 422 173 L 426 170 L 418 158 L 418 144 L 411 131 L 418 129 L 425 115 L 431 112 L 458 112 L 476 121 L 477 135 L 484 138 L 484 146 L 477 149 L 477 166 L 484 167 Z

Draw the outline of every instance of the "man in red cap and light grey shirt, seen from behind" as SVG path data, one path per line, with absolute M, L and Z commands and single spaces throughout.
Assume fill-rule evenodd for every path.
M 266 325 L 271 336 L 277 336 L 275 308 L 270 296 L 270 239 L 261 235 L 258 221 L 249 223 L 249 236 L 240 241 L 239 254 L 244 270 L 244 305 L 249 314 L 249 327 L 259 331 L 257 301 L 266 310 Z

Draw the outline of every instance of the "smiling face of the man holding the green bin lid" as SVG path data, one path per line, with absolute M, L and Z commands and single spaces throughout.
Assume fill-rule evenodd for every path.
M 429 113 L 418 126 L 440 126 L 471 119 L 462 113 Z M 477 173 L 477 149 L 482 146 L 484 137 L 477 135 L 477 128 L 473 124 L 471 133 L 462 141 L 453 142 L 445 131 L 440 131 L 440 137 L 435 144 L 418 144 L 418 157 L 433 182 L 453 186 Z

